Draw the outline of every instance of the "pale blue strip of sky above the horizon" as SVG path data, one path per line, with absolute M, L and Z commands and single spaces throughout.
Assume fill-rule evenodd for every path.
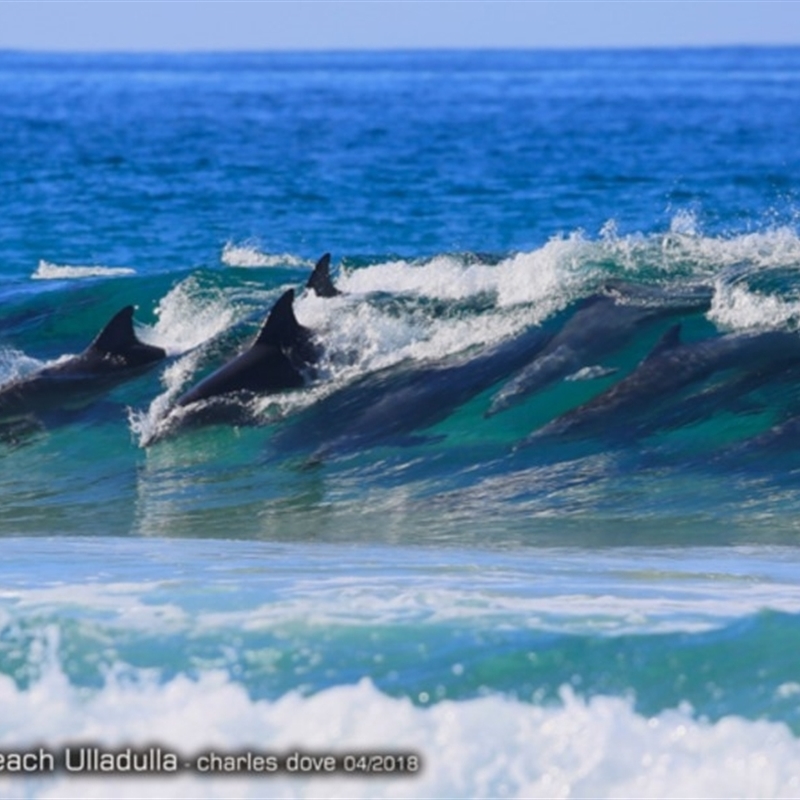
M 0 0 L 0 49 L 800 44 L 800 0 Z

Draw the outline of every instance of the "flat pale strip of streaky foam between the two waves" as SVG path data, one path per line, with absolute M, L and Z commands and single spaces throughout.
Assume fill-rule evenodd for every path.
M 192 454 L 184 456 L 185 460 Z M 197 456 L 202 457 L 202 454 Z M 179 475 L 178 480 L 189 481 Z M 163 484 L 163 474 L 158 480 Z M 159 502 L 158 487 L 148 484 L 148 502 Z M 387 524 L 390 517 L 386 515 Z M 154 525 L 154 529 L 158 526 Z M 12 559 L 14 541 L 7 545 Z M 54 544 L 48 554 L 53 558 Z M 194 588 L 185 582 L 167 592 L 160 583 L 136 582 L 129 562 L 150 568 L 161 558 L 149 558 L 152 545 L 120 544 L 114 549 L 120 567 L 103 566 L 104 582 L 96 577 L 106 565 L 106 551 L 92 556 L 75 544 L 64 547 L 58 563 L 68 564 L 71 580 L 54 585 L 8 587 L 0 590 L 2 605 L 20 613 L 46 616 L 70 605 L 87 617 L 100 614 L 107 625 L 121 630 L 145 630 L 189 637 L 229 630 L 272 630 L 286 626 L 333 629 L 409 623 L 458 623 L 491 627 L 514 625 L 570 635 L 621 636 L 710 631 L 770 609 L 800 613 L 800 590 L 795 573 L 798 553 L 776 551 L 770 557 L 748 556 L 735 549 L 720 555 L 697 548 L 686 553 L 637 548 L 609 555 L 595 554 L 591 568 L 582 552 L 542 549 L 524 558 L 474 556 L 481 569 L 434 550 L 326 546 L 269 546 L 236 548 L 226 543 L 229 557 L 238 553 L 229 570 L 215 555 L 201 557 L 197 543 L 176 545 L 169 556 L 184 565 L 198 584 L 235 581 L 248 600 L 225 609 L 182 610 Z M 345 552 L 346 551 L 346 552 Z M 215 553 L 215 551 L 213 551 Z M 708 564 L 714 561 L 715 573 Z M 37 562 L 38 563 L 38 562 Z M 247 563 L 243 575 L 238 566 Z M 292 572 L 303 565 L 298 576 Z M 743 566 L 743 564 L 745 566 Z M 338 565 L 338 566 L 337 566 Z M 435 573 L 436 579 L 431 575 Z M 465 577 L 468 574 L 468 577 Z M 188 579 L 187 579 L 188 581 Z M 187 597 L 189 598 L 187 600 Z M 16 612 L 15 612 L 16 613 Z

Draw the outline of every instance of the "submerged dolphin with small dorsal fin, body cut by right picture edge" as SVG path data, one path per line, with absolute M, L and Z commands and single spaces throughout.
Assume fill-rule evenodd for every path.
M 636 414 L 719 370 L 775 369 L 800 360 L 796 333 L 731 333 L 683 344 L 680 329 L 673 325 L 627 377 L 534 431 L 522 445 L 550 436 L 630 435 Z

